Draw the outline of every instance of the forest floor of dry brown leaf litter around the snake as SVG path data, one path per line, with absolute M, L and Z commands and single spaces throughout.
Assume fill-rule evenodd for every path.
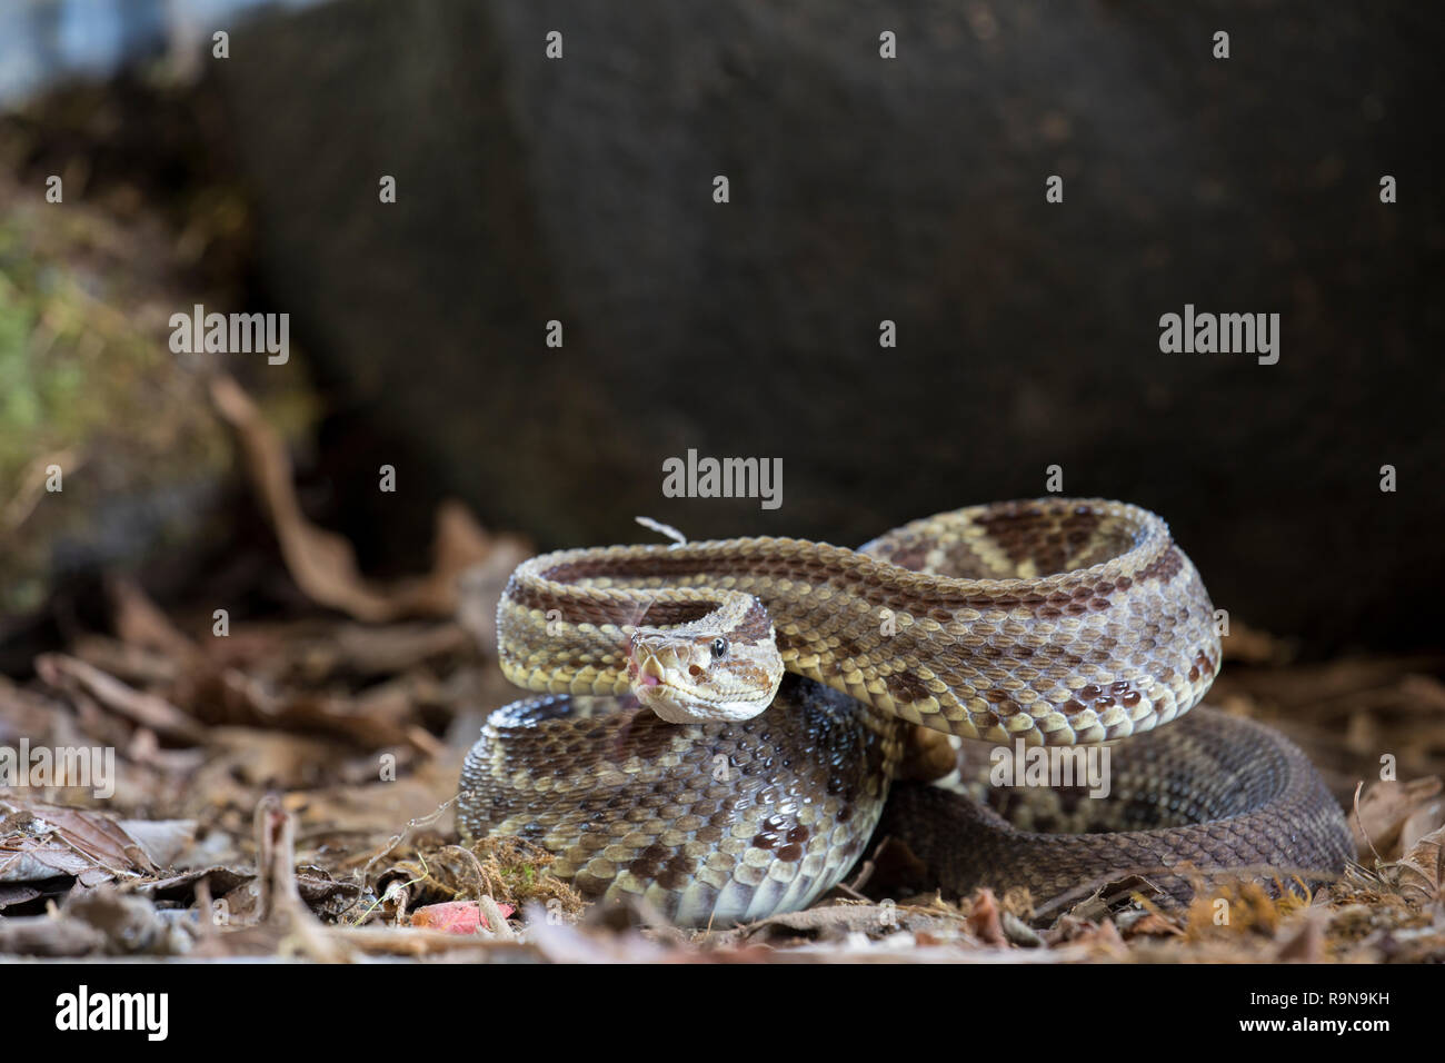
M 458 616 L 457 577 L 494 600 L 526 542 L 448 505 L 428 574 L 368 580 L 302 515 L 282 437 L 244 392 L 218 377 L 212 399 L 270 515 L 266 579 L 293 607 L 168 615 L 117 576 L 103 625 L 72 618 L 32 674 L 0 678 L 0 746 L 114 752 L 104 785 L 0 787 L 0 956 L 1445 960 L 1445 659 L 1302 664 L 1238 626 L 1211 703 L 1299 743 L 1355 833 L 1358 862 L 1308 897 L 1241 882 L 1221 918 L 1212 898 L 1168 911 L 1126 891 L 1035 927 L 1045 898 L 870 900 L 864 862 L 812 908 L 741 927 L 587 905 L 536 846 L 464 848 L 452 823 L 467 746 L 516 697 L 493 618 Z

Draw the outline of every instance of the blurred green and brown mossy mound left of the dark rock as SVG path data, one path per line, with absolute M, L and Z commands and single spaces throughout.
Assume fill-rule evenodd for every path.
M 0 200 L 16 202 L 0 217 L 3 615 L 43 602 L 58 558 L 126 565 L 195 535 L 234 451 L 211 364 L 169 349 L 169 315 L 205 298 L 172 279 L 166 230 L 13 188 Z M 288 434 L 314 424 L 299 369 L 264 376 L 262 405 Z

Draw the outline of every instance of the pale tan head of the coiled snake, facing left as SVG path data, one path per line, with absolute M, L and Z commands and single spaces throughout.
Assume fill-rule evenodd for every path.
M 727 629 L 639 628 L 629 639 L 633 694 L 669 723 L 749 720 L 773 703 L 783 678 L 772 620 Z

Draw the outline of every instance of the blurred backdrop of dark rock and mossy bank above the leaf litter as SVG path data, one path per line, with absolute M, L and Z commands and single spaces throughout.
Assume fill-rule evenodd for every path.
M 10 0 L 0 665 L 117 568 L 283 603 L 217 369 L 379 576 L 425 567 L 447 498 L 543 548 L 650 538 L 637 513 L 854 545 L 1058 466 L 1305 655 L 1435 649 L 1441 30 L 1412 3 Z M 172 354 L 197 302 L 289 314 L 288 364 Z M 1185 304 L 1279 314 L 1279 363 L 1160 353 Z M 782 505 L 666 498 L 689 448 L 780 458 Z

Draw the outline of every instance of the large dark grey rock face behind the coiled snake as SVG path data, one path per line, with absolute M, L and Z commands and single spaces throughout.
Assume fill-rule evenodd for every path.
M 1402 1 L 353 0 L 214 69 L 275 301 L 419 505 L 857 544 L 1059 464 L 1234 616 L 1403 646 L 1445 593 L 1441 45 Z M 1185 304 L 1279 312 L 1279 364 L 1162 354 Z M 665 499 L 691 447 L 780 457 L 782 508 Z

